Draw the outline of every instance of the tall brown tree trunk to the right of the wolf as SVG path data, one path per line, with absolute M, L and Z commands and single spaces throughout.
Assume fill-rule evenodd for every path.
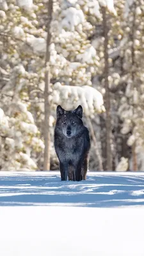
M 103 28 L 104 28 L 104 77 L 105 77 L 105 106 L 106 106 L 106 170 L 113 170 L 113 157 L 111 152 L 111 100 L 108 83 L 108 19 L 106 8 L 102 8 Z

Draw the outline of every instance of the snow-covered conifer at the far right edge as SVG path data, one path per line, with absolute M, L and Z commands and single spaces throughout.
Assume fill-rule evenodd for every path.
M 124 59 L 122 83 L 126 84 L 119 114 L 124 122 L 122 134 L 129 134 L 132 148 L 131 170 L 141 166 L 143 152 L 143 1 L 125 1 L 121 56 Z

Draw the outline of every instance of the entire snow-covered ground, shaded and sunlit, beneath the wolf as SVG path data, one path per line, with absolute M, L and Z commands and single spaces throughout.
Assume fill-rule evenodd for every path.
M 0 172 L 1 256 L 143 256 L 144 173 Z

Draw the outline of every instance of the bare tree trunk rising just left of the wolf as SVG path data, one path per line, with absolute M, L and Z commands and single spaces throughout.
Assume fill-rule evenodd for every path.
M 45 150 L 44 150 L 44 170 L 50 170 L 50 159 L 51 159 L 51 133 L 49 126 L 49 117 L 51 113 L 51 106 L 49 103 L 49 93 L 50 93 L 50 82 L 51 82 L 51 71 L 50 71 L 50 51 L 49 46 L 51 44 L 51 20 L 52 20 L 52 7 L 53 1 L 49 0 L 47 4 L 48 9 L 48 19 L 47 19 L 47 49 L 45 55 L 45 91 L 44 91 L 44 141 L 45 141 Z

